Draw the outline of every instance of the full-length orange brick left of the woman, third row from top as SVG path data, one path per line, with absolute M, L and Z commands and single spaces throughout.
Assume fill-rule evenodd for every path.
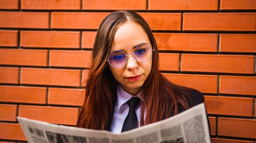
M 80 48 L 80 32 L 21 31 L 20 46 L 32 48 Z

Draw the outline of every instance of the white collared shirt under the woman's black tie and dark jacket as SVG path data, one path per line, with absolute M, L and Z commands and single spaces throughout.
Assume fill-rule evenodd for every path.
M 115 104 L 114 115 L 113 115 L 112 124 L 110 128 L 111 132 L 117 133 L 117 134 L 121 133 L 124 120 L 128 115 L 129 108 L 130 108 L 126 102 L 132 97 L 139 97 L 142 100 L 141 102 L 143 102 L 143 99 L 141 98 L 141 92 L 139 92 L 136 96 L 132 96 L 126 91 L 124 91 L 124 89 L 121 88 L 121 85 L 117 87 L 117 102 Z M 139 124 L 140 115 L 141 115 L 140 109 L 141 109 L 141 106 L 137 106 L 135 108 L 135 112 L 138 119 L 138 126 L 140 126 Z

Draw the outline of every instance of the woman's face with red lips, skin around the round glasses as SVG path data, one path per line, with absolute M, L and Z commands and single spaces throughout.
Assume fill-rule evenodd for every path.
M 117 28 L 111 48 L 111 52 L 113 50 L 122 50 L 126 54 L 131 54 L 127 56 L 127 63 L 124 67 L 115 68 L 109 65 L 115 79 L 131 95 L 137 95 L 141 91 L 141 87 L 152 67 L 152 58 L 141 63 L 132 55 L 134 48 L 141 43 L 152 47 L 144 29 L 136 22 L 128 21 Z

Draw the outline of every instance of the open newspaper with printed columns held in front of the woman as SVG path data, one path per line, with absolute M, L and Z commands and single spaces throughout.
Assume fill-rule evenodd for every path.
M 28 143 L 211 143 L 204 103 L 121 134 L 17 119 Z

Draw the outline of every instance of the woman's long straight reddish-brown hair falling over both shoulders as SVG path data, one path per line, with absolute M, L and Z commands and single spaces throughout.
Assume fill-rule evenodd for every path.
M 118 26 L 127 21 L 140 24 L 155 49 L 150 74 L 142 87 L 144 102 L 141 105 L 140 125 L 144 126 L 176 115 L 178 108 L 189 108 L 190 89 L 171 83 L 159 71 L 157 43 L 146 21 L 134 11 L 116 11 L 103 19 L 97 32 L 92 65 L 85 81 L 85 101 L 79 112 L 78 127 L 105 130 L 108 125 L 109 118 L 114 112 L 118 82 L 106 61 Z

